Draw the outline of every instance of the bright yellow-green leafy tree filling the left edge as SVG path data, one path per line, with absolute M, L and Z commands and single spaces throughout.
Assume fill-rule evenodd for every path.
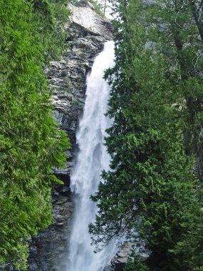
M 56 56 L 52 2 L 0 0 L 0 265 L 26 270 L 28 240 L 51 223 L 53 167 L 70 147 L 53 120 L 44 63 Z

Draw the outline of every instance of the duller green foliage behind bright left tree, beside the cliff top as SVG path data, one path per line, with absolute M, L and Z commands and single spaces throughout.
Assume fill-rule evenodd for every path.
M 44 63 L 58 58 L 63 52 L 67 38 L 66 31 L 63 31 L 63 23 L 67 21 L 70 14 L 67 0 L 34 0 L 33 6 L 33 36 L 39 44 L 43 44 L 41 53 Z M 38 29 L 36 32 L 35 29 Z

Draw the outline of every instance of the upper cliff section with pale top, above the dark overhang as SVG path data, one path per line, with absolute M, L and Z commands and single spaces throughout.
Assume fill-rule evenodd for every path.
M 75 152 L 76 128 L 83 112 L 86 75 L 95 56 L 102 51 L 105 41 L 113 39 L 110 21 L 96 14 L 90 6 L 84 6 L 83 2 L 86 1 L 80 2 L 79 6 L 69 5 L 72 15 L 65 25 L 69 49 L 60 61 L 51 63 L 51 70 L 46 71 L 54 88 L 52 98 L 56 120 L 71 139 L 72 149 L 68 152 L 70 158 Z M 71 168 L 72 163 L 71 159 L 68 168 Z

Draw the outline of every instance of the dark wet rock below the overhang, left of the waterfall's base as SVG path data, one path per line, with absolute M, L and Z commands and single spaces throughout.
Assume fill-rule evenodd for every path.
M 29 271 L 55 271 L 65 261 L 72 213 L 70 197 L 54 195 L 53 223 L 31 240 Z

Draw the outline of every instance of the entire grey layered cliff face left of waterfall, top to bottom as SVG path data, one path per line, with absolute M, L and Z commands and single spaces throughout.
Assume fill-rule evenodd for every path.
M 85 101 L 85 78 L 95 56 L 102 51 L 105 41 L 111 40 L 111 24 L 95 14 L 93 8 L 80 1 L 70 4 L 71 18 L 65 25 L 68 32 L 68 49 L 59 61 L 46 70 L 53 86 L 53 105 L 56 120 L 68 133 L 72 149 L 68 151 L 68 170 L 57 171 L 65 185 L 56 187 L 53 193 L 53 225 L 31 240 L 29 271 L 64 271 L 68 235 L 71 227 L 73 203 L 69 192 L 70 169 L 76 151 L 76 129 Z

